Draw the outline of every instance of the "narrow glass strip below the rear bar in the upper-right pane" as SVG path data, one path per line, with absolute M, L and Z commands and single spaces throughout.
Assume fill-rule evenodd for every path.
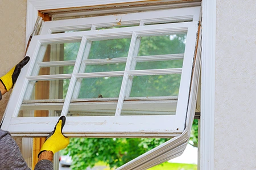
M 135 70 L 182 68 L 183 59 L 170 61 L 137 62 Z

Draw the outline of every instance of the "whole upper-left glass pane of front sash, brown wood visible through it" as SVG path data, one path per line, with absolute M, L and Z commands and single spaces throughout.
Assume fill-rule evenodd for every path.
M 65 72 L 72 73 L 79 47 L 80 41 L 42 45 L 39 49 L 38 56 L 36 57 L 36 64 L 32 71 L 32 75 L 65 74 Z M 71 62 L 62 65 L 62 63 L 58 61 Z M 41 64 L 43 64 L 42 62 L 57 62 L 57 66 L 51 66 L 48 63 L 44 63 L 44 65 L 41 66 Z M 48 67 L 46 67 L 46 65 Z M 64 68 L 59 69 L 61 66 Z M 49 67 L 51 67 L 51 69 Z

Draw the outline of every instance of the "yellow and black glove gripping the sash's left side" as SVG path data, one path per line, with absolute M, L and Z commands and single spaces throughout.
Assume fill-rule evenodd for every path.
M 0 78 L 0 81 L 3 83 L 3 86 L 5 86 L 5 89 L 9 91 L 11 88 L 13 88 L 14 84 L 16 83 L 16 80 L 19 76 L 20 70 L 24 65 L 26 65 L 30 61 L 30 57 L 26 56 L 22 61 L 20 61 L 16 66 L 13 67 L 6 75 L 2 76 Z

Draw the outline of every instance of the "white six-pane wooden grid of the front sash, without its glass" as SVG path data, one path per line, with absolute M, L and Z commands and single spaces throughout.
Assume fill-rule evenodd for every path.
M 64 23 L 64 22 L 63 22 Z M 102 40 L 102 39 L 113 39 L 115 37 L 132 37 L 132 42 L 130 48 L 135 46 L 135 40 L 140 36 L 147 35 L 160 35 L 166 33 L 180 33 L 187 32 L 187 43 L 185 46 L 184 52 L 184 62 L 183 69 L 181 73 L 180 81 L 180 92 L 177 100 L 177 109 L 175 115 L 169 116 L 119 116 L 120 112 L 116 112 L 115 116 L 110 117 L 84 117 L 82 120 L 81 117 L 69 117 L 67 119 L 67 125 L 64 128 L 64 133 L 67 133 L 68 136 L 76 137 L 175 137 L 178 134 L 181 134 L 184 130 L 184 121 L 187 112 L 187 102 L 189 96 L 189 86 L 191 82 L 191 71 L 193 65 L 193 54 L 195 50 L 195 41 L 196 41 L 196 32 L 197 32 L 197 22 L 184 22 L 184 23 L 171 23 L 171 24 L 160 24 L 160 25 L 144 25 L 138 27 L 129 27 L 129 28 L 114 28 L 114 29 L 105 29 L 97 31 L 81 31 L 81 32 L 69 32 L 69 33 L 60 33 L 52 35 L 39 35 L 34 36 L 31 41 L 30 48 L 28 49 L 27 55 L 31 56 L 31 61 L 26 67 L 23 68 L 22 73 L 20 74 L 19 79 L 14 88 L 13 94 L 11 95 L 10 102 L 6 109 L 5 121 L 3 122 L 2 128 L 9 130 L 14 136 L 46 136 L 46 134 L 51 131 L 53 127 L 47 126 L 42 130 L 42 126 L 49 124 L 47 122 L 56 122 L 56 117 L 46 117 L 45 121 L 42 121 L 42 117 L 17 117 L 19 108 L 22 104 L 23 96 L 26 95 L 25 91 L 27 88 L 28 80 L 48 80 L 48 79 L 63 79 L 71 78 L 71 83 L 69 84 L 68 94 L 64 100 L 64 106 L 62 108 L 61 115 L 66 115 L 68 112 L 69 104 L 71 103 L 73 90 L 75 89 L 75 83 L 77 78 L 84 78 L 86 76 L 106 76 L 110 74 L 123 75 L 123 79 L 127 79 L 129 75 L 157 75 L 157 74 L 170 74 L 170 73 L 180 73 L 181 69 L 159 69 L 159 70 L 133 70 L 129 71 L 115 71 L 112 73 L 79 73 L 79 65 L 82 61 L 82 54 L 85 50 L 85 44 L 88 40 Z M 81 40 L 79 54 L 75 62 L 75 68 L 73 74 L 63 74 L 63 75 L 43 75 L 43 76 L 30 76 L 34 64 L 36 62 L 36 57 L 39 53 L 40 46 L 42 44 L 47 44 L 49 42 L 59 43 L 64 41 L 76 41 Z M 133 50 L 133 49 L 130 49 Z M 130 51 L 129 50 L 129 51 Z M 133 57 L 133 52 L 127 57 L 127 62 Z M 181 54 L 183 55 L 183 54 Z M 168 57 L 168 56 L 162 56 Z M 170 56 L 169 56 L 170 57 Z M 136 58 L 136 57 L 135 57 Z M 141 58 L 137 57 L 138 59 Z M 141 58 L 143 60 L 143 57 Z M 42 63 L 40 63 L 42 65 Z M 65 65 L 67 62 L 57 63 L 51 62 L 52 65 Z M 26 77 L 26 78 L 24 78 Z M 123 81 L 124 82 L 124 81 Z M 121 92 L 119 96 L 119 101 L 117 105 L 117 110 L 121 110 L 124 100 L 125 90 L 123 89 L 126 86 L 126 83 L 122 84 Z M 18 97 L 14 97 L 18 96 Z M 17 99 L 18 98 L 18 99 Z M 16 107 L 11 107 L 15 105 Z M 136 121 L 134 121 L 136 120 Z M 158 120 L 158 121 L 156 121 Z M 83 126 L 71 126 L 77 122 L 77 124 Z M 92 122 L 94 122 L 92 124 Z M 105 123 L 106 122 L 106 123 Z M 117 124 L 113 126 L 112 124 Z M 50 123 L 51 124 L 51 123 Z M 55 124 L 55 123 L 54 123 Z M 69 126 L 70 124 L 70 126 Z M 30 128 L 27 127 L 27 125 Z M 82 128 L 85 125 L 89 125 L 88 128 Z M 93 125 L 93 126 L 92 126 Z M 154 126 L 152 126 L 154 125 Z M 40 128 L 38 128 L 40 127 Z M 114 127 L 114 128 L 113 128 Z M 79 129 L 86 129 L 79 131 Z M 99 131 L 95 130 L 99 129 Z M 113 129 L 109 131 L 109 129 Z M 145 131 L 146 129 L 146 131 Z M 32 131 L 32 133 L 31 133 Z M 143 131 L 143 133 L 138 131 Z

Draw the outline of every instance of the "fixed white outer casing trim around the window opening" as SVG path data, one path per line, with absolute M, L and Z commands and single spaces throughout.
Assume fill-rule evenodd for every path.
M 118 1 L 122 3 L 125 1 Z M 126 1 L 127 2 L 127 1 Z M 134 2 L 134 1 L 129 1 Z M 81 1 L 27 1 L 26 41 L 34 27 L 38 11 L 64 7 L 86 6 Z M 92 3 L 92 2 L 88 2 Z M 100 5 L 102 2 L 95 2 Z M 216 0 L 203 0 L 203 40 L 202 40 L 202 82 L 201 82 L 201 133 L 199 169 L 214 169 L 214 73 L 215 73 L 215 39 L 216 39 Z

